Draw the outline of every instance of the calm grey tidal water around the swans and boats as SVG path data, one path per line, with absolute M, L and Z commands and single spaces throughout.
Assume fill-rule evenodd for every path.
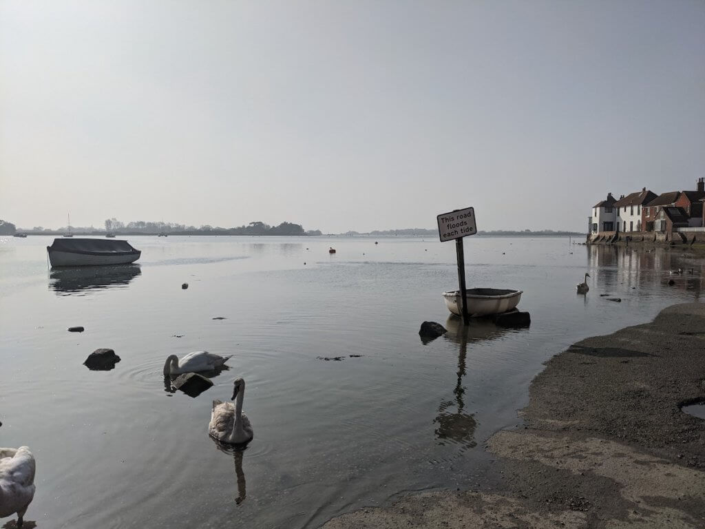
M 542 362 L 698 299 L 705 273 L 667 286 L 693 266 L 677 250 L 469 238 L 468 286 L 521 288 L 532 326 L 464 336 L 440 296 L 457 288 L 453 243 L 128 240 L 140 265 L 96 274 L 50 273 L 51 238 L 0 238 L 0 446 L 35 454 L 37 528 L 316 527 L 400 491 L 472 485 Z M 424 320 L 450 332 L 424 346 Z M 82 365 L 100 347 L 121 356 L 114 370 Z M 231 369 L 195 399 L 166 391 L 166 356 L 200 349 L 233 354 Z M 255 439 L 233 453 L 207 425 L 237 376 Z

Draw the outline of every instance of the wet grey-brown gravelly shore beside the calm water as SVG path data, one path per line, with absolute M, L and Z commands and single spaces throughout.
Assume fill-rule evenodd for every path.
M 595 336 L 546 363 L 524 423 L 486 443 L 473 490 L 408 494 L 325 529 L 705 528 L 705 303 Z

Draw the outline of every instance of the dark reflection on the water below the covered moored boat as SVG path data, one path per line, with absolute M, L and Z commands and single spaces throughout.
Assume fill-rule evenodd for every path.
M 102 288 L 125 286 L 142 274 L 139 265 L 52 269 L 49 288 L 59 296 L 85 295 Z

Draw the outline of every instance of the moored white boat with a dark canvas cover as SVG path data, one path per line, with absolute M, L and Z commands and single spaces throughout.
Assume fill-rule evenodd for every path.
M 128 265 L 142 255 L 128 241 L 105 239 L 54 239 L 47 252 L 51 267 Z

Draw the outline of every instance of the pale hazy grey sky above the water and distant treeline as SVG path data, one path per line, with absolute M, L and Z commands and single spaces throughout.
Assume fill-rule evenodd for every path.
M 705 176 L 701 0 L 0 0 L 0 219 L 585 231 Z

